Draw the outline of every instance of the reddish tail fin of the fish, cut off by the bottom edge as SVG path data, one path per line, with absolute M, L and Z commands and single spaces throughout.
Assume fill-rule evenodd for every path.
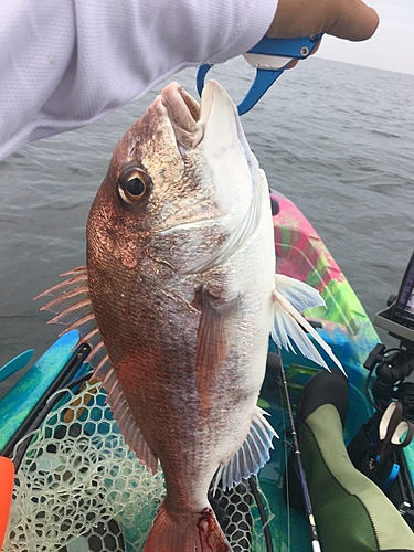
M 231 552 L 212 508 L 171 516 L 162 502 L 144 552 Z

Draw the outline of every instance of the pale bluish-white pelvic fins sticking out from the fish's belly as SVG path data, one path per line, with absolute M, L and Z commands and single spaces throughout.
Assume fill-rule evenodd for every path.
M 304 357 L 329 370 L 319 351 L 307 336 L 306 332 L 308 332 L 344 373 L 343 367 L 333 354 L 332 349 L 299 312 L 299 310 L 311 307 L 325 306 L 319 293 L 304 282 L 287 276 L 276 275 L 275 284 L 273 291 L 274 322 L 272 328 L 272 339 L 275 343 L 296 353 L 294 342 Z

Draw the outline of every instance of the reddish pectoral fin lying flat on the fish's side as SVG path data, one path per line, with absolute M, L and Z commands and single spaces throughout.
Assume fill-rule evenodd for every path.
M 195 293 L 193 306 L 200 310 L 195 370 L 203 412 L 209 406 L 209 394 L 217 369 L 229 353 L 232 321 L 238 304 L 238 296 L 222 301 L 211 295 L 205 286 L 201 286 Z

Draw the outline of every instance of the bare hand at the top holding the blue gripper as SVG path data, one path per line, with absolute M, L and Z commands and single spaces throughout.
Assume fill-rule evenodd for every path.
M 278 39 L 327 33 L 367 40 L 379 24 L 375 10 L 362 0 L 279 0 L 267 35 Z

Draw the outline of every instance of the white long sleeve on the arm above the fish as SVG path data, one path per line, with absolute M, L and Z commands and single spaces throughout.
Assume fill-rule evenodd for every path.
M 256 44 L 277 0 L 2 0 L 0 160 Z

